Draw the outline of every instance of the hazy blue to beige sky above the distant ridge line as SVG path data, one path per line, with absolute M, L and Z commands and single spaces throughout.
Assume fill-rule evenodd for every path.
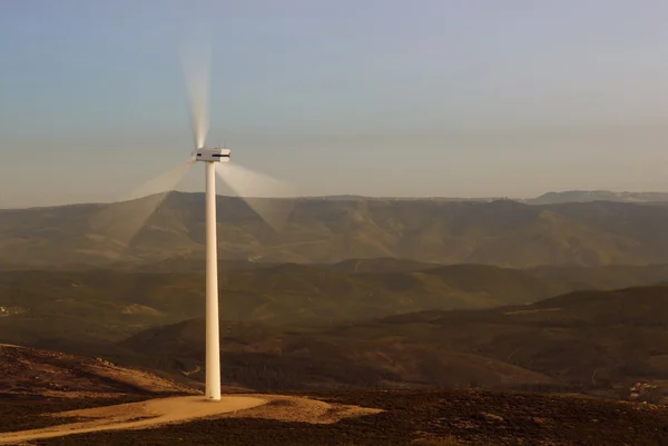
M 3 0 L 0 207 L 184 162 L 179 51 L 207 29 L 207 142 L 301 196 L 667 191 L 667 22 L 659 0 Z

